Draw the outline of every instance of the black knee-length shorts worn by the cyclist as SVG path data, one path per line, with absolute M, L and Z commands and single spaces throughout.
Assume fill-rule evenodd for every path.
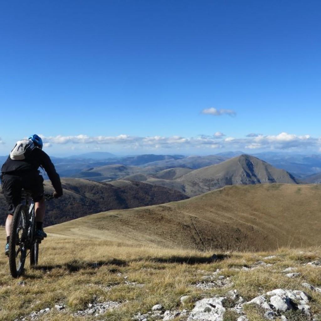
M 33 172 L 19 176 L 3 174 L 2 188 L 9 214 L 13 214 L 15 207 L 20 204 L 22 188 L 31 191 L 34 202 L 39 202 L 44 195 L 43 177 Z

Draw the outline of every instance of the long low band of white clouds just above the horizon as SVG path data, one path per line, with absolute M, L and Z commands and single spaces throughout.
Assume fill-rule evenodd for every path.
M 321 149 L 321 138 L 310 135 L 296 135 L 282 132 L 277 135 L 248 134 L 244 138 L 226 137 L 221 132 L 213 135 L 183 136 L 147 136 L 137 137 L 126 134 L 117 136 L 42 136 L 44 147 L 64 151 L 71 150 L 118 150 L 136 152 L 193 152 L 213 149 L 232 150 L 314 150 Z M 4 141 L 0 138 L 0 143 Z

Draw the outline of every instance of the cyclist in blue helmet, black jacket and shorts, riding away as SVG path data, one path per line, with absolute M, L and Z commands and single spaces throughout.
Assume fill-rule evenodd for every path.
M 47 234 L 42 229 L 42 223 L 46 211 L 43 177 L 40 175 L 39 167 L 43 168 L 55 189 L 54 197 L 63 195 L 60 177 L 56 172 L 50 157 L 42 150 L 42 139 L 37 134 L 28 137 L 33 142 L 33 149 L 22 160 L 13 160 L 9 157 L 1 168 L 1 185 L 6 203 L 8 204 L 8 217 L 5 222 L 7 243 L 5 254 L 9 253 L 9 237 L 11 222 L 15 207 L 21 202 L 22 188 L 31 191 L 35 202 L 36 213 L 36 239 L 43 240 Z M 17 146 L 17 145 L 16 145 Z

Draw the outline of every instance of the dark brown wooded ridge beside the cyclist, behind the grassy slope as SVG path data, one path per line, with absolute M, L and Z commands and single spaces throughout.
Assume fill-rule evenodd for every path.
M 136 208 L 187 199 L 188 196 L 167 187 L 129 181 L 106 184 L 79 178 L 62 178 L 63 197 L 46 203 L 45 226 L 113 209 Z M 45 181 L 45 192 L 53 188 Z M 0 212 L 6 213 L 4 195 L 0 194 Z M 5 222 L 0 217 L 0 224 Z

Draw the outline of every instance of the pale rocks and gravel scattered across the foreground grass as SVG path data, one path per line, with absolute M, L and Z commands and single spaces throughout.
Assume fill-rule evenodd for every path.
M 257 261 L 251 266 L 241 266 L 237 269 L 244 271 L 251 271 L 262 267 L 268 267 L 273 264 L 265 263 L 266 260 L 273 259 L 275 256 L 265 257 L 265 260 Z M 321 273 L 321 261 L 312 261 L 302 265 L 308 265 L 315 269 L 320 269 Z M 235 267 L 233 269 L 236 269 Z M 288 278 L 300 278 L 301 273 L 296 272 L 298 266 L 285 268 L 281 273 Z M 204 271 L 205 273 L 205 271 Z M 310 309 L 311 296 L 309 293 L 321 294 L 321 288 L 309 284 L 307 282 L 299 282 L 301 288 L 307 289 L 302 291 L 298 289 L 274 289 L 261 293 L 251 300 L 246 301 L 239 295 L 239 291 L 234 287 L 230 280 L 230 277 L 220 275 L 221 271 L 217 271 L 206 274 L 201 280 L 195 284 L 191 284 L 191 287 L 197 287 L 201 289 L 220 288 L 226 289 L 225 295 L 215 295 L 213 297 L 204 298 L 198 300 L 194 304 L 193 309 L 186 308 L 186 302 L 189 302 L 192 298 L 189 295 L 182 296 L 180 298 L 180 308 L 175 310 L 165 310 L 162 302 L 154 305 L 147 313 L 135 313 L 132 316 L 133 321 L 156 321 L 156 320 L 185 320 L 185 321 L 249 321 L 253 318 L 248 318 L 247 309 L 248 305 L 257 307 L 262 311 L 262 316 L 266 320 L 282 320 L 282 321 L 297 321 L 297 320 L 321 320 L 321 316 L 313 314 Z M 126 275 L 123 276 L 125 282 Z M 129 286 L 144 287 L 144 284 L 138 284 L 135 282 L 127 282 Z M 298 283 L 298 284 L 299 284 Z M 24 282 L 21 282 L 21 286 L 24 286 Z M 117 285 L 115 285 L 117 286 Z M 223 291 L 224 293 L 224 291 Z M 107 320 L 104 318 L 104 313 L 110 309 L 119 308 L 124 302 L 106 301 L 101 302 L 100 298 L 93 298 L 92 302 L 86 309 L 72 312 L 66 307 L 66 304 L 56 304 L 54 307 L 45 307 L 40 311 L 34 311 L 30 315 L 16 319 L 15 321 L 27 321 L 38 320 L 43 317 L 49 311 L 55 309 L 64 314 L 73 315 L 75 319 L 77 317 L 93 317 L 97 320 Z M 293 312 L 293 313 L 292 313 Z

